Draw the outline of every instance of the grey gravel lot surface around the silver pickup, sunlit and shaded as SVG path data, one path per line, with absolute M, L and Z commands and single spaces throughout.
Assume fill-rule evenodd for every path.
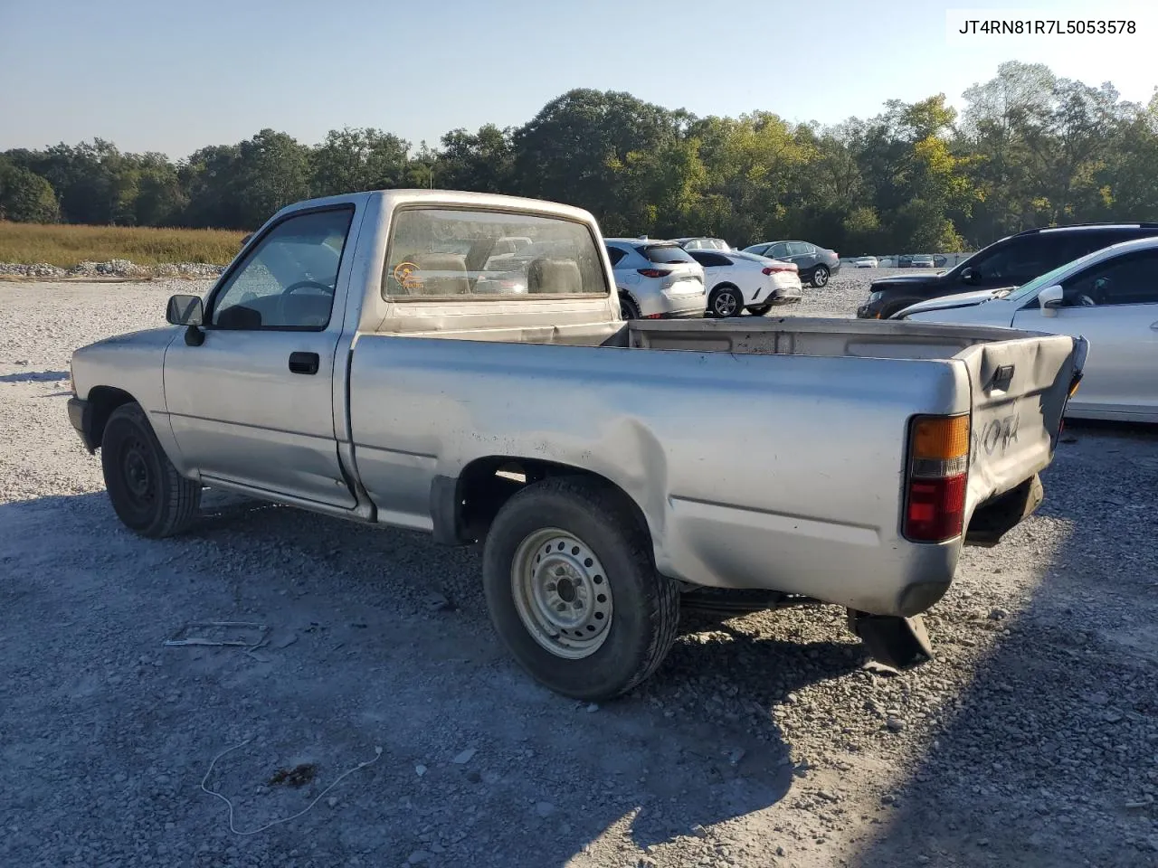
M 799 312 L 851 315 L 880 273 Z M 68 356 L 190 286 L 0 285 L 0 865 L 1158 865 L 1152 432 L 1070 431 L 917 670 L 798 609 L 689 621 L 586 706 L 499 650 L 472 551 L 226 498 L 179 539 L 120 527 Z M 163 646 L 193 620 L 269 632 Z M 205 786 L 239 832 L 316 804 L 232 832 L 201 782 L 235 746 Z

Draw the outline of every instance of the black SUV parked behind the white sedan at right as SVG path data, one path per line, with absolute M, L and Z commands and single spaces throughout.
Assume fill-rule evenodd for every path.
M 939 274 L 897 274 L 874 280 L 868 287 L 868 301 L 857 308 L 857 316 L 887 319 L 929 299 L 1021 286 L 1094 250 L 1155 235 L 1158 223 L 1077 223 L 1029 229 L 995 241 Z

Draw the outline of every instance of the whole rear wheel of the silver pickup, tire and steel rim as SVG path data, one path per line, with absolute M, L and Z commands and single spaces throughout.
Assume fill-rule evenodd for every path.
M 675 582 L 614 490 L 577 477 L 528 485 L 486 535 L 491 623 L 519 664 L 576 699 L 610 699 L 651 676 L 680 620 Z

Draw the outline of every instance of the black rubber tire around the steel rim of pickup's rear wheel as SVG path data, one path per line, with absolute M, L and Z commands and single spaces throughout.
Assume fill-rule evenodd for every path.
M 602 565 L 607 574 L 594 581 L 609 589 L 614 603 L 602 643 L 578 659 L 562 656 L 536 639 L 515 603 L 520 551 L 554 529 L 594 553 L 596 567 Z M 537 549 L 529 551 L 535 554 Z M 535 556 L 535 562 L 541 558 Z M 651 676 L 667 656 L 680 623 L 676 583 L 655 572 L 647 534 L 623 495 L 581 477 L 528 485 L 503 506 L 486 535 L 483 588 L 491 623 L 519 664 L 544 686 L 586 701 L 617 697 Z

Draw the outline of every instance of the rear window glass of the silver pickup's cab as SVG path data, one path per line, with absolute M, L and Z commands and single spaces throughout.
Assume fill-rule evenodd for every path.
M 587 226 L 468 208 L 400 208 L 382 274 L 387 299 L 607 295 Z

